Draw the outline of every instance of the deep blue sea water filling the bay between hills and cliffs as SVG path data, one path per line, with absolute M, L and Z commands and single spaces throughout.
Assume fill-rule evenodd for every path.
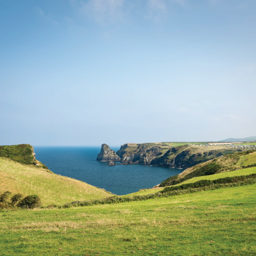
M 153 187 L 183 171 L 142 164 L 108 166 L 108 162 L 96 161 L 100 147 L 34 146 L 34 151 L 36 159 L 52 172 L 104 188 L 116 195 Z

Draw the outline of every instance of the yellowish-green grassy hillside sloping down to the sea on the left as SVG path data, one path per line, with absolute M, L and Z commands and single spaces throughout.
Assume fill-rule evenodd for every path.
M 5 191 L 36 194 L 43 206 L 66 202 L 100 199 L 110 194 L 85 182 L 53 174 L 44 168 L 25 165 L 0 157 L 0 194 Z

